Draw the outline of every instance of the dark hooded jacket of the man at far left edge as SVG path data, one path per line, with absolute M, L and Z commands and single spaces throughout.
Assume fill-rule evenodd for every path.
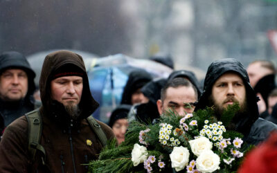
M 16 102 L 6 102 L 0 99 L 0 113 L 3 116 L 5 126 L 8 126 L 13 120 L 35 108 L 35 100 L 33 98 L 35 72 L 30 68 L 26 57 L 15 51 L 2 53 L 0 55 L 0 74 L 7 69 L 22 69 L 27 73 L 28 91 L 24 99 Z

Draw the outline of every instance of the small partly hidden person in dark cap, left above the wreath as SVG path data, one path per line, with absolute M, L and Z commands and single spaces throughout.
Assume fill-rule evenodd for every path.
M 129 104 L 120 104 L 111 112 L 109 127 L 114 131 L 118 144 L 125 140 L 125 133 L 128 128 L 127 115 L 131 107 Z

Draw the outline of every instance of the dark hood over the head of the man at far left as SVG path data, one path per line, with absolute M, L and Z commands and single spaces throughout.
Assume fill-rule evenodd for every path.
M 35 91 L 35 72 L 30 68 L 26 57 L 15 51 L 4 52 L 0 55 L 0 74 L 6 69 L 21 69 L 28 75 L 28 91 L 26 99 L 33 103 L 33 93 Z

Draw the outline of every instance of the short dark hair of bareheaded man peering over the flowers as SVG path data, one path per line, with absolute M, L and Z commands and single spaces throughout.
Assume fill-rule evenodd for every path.
M 195 91 L 195 98 L 197 100 L 197 89 L 196 87 L 187 79 L 185 78 L 174 78 L 166 83 L 165 86 L 163 86 L 163 89 L 161 89 L 161 101 L 163 102 L 166 99 L 166 91 L 169 87 L 172 88 L 178 88 L 179 86 L 187 86 L 187 87 L 193 87 L 193 90 Z

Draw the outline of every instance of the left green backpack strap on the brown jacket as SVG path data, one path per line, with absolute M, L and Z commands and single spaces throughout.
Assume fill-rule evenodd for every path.
M 44 165 L 46 157 L 45 149 L 39 144 L 40 137 L 42 136 L 42 117 L 40 116 L 39 109 L 30 111 L 25 116 L 28 120 L 28 151 L 32 161 L 35 161 L 37 150 L 42 152 L 42 164 Z

